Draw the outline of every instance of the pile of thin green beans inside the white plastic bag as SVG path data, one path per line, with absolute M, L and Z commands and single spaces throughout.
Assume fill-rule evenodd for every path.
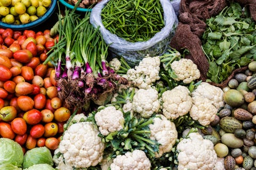
M 147 41 L 164 27 L 159 0 L 110 0 L 101 11 L 107 30 L 130 42 Z

